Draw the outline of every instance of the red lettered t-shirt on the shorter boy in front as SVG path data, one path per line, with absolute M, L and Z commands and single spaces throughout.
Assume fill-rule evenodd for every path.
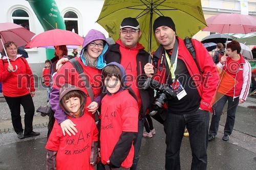
M 46 144 L 46 149 L 57 151 L 57 169 L 94 170 L 90 164 L 92 142 L 98 140 L 98 130 L 94 119 L 84 114 L 82 117 L 69 117 L 78 133 L 63 136 L 60 125 L 55 121 L 53 130 Z

